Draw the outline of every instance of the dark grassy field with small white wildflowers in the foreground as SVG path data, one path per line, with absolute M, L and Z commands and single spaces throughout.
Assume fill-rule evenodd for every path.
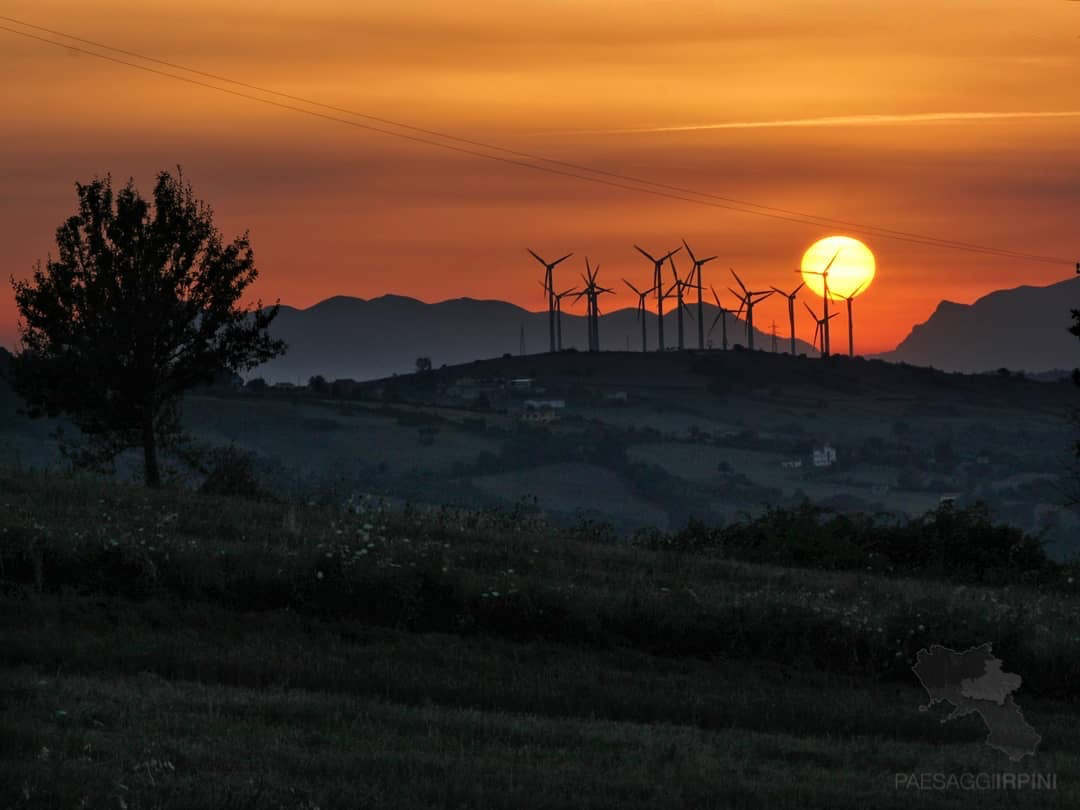
M 0 505 L 0 807 L 1080 802 L 1072 567 L 1017 557 L 991 586 L 747 562 L 779 550 L 734 535 L 26 473 Z M 984 642 L 1042 734 L 1020 764 L 919 711 L 918 650 Z M 1057 789 L 895 788 L 923 771 Z

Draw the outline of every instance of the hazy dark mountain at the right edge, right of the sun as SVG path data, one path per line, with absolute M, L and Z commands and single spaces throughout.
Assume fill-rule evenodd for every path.
M 974 303 L 942 301 L 893 351 L 894 363 L 946 372 L 1047 372 L 1080 366 L 1080 340 L 1068 332 L 1080 309 L 1080 276 L 1047 287 L 999 289 Z

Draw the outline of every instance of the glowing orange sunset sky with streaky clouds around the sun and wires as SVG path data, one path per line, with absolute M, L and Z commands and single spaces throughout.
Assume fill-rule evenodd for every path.
M 221 5 L 12 0 L 0 14 L 606 171 L 1080 258 L 1080 114 L 995 117 L 1080 112 L 1080 3 Z M 539 268 L 526 246 L 576 252 L 562 274 L 567 285 L 584 255 L 600 262 L 602 281 L 636 282 L 650 268 L 634 242 L 662 251 L 683 237 L 720 255 L 708 266 L 720 289 L 731 283 L 728 266 L 752 287 L 785 286 L 810 243 L 842 232 L 410 144 L 5 31 L 0 42 L 5 278 L 23 278 L 52 248 L 56 226 L 73 211 L 75 180 L 111 172 L 134 176 L 148 193 L 154 172 L 177 163 L 226 235 L 251 230 L 257 294 L 300 307 L 392 292 L 504 298 L 539 310 Z M 991 116 L 951 117 L 971 112 Z M 941 120 L 928 120 L 931 113 Z M 806 122 L 821 118 L 839 120 Z M 753 125 L 710 129 L 730 123 Z M 1065 265 L 865 241 L 878 274 L 856 306 L 863 352 L 894 347 L 942 298 L 971 301 L 1072 273 Z M 5 289 L 0 339 L 11 346 L 15 310 Z M 622 291 L 611 298 L 607 311 L 634 303 Z M 755 311 L 756 323 L 768 329 L 774 319 L 784 334 L 785 313 L 777 297 Z M 799 333 L 809 338 L 804 320 Z

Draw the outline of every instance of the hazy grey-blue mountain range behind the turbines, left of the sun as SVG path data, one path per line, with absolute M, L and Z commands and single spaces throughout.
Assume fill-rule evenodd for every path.
M 697 303 L 691 306 L 697 314 Z M 718 310 L 705 305 L 705 328 Z M 685 318 L 686 346 L 697 348 L 697 321 Z M 648 346 L 657 346 L 657 316 L 646 321 Z M 677 316 L 664 315 L 664 345 L 677 345 Z M 384 295 L 363 299 L 336 296 L 308 309 L 282 306 L 271 334 L 288 343 L 288 352 L 266 363 L 247 376 L 262 376 L 271 382 L 307 382 L 313 375 L 328 380 L 389 377 L 416 370 L 418 357 L 429 357 L 438 366 L 517 354 L 522 329 L 525 351 L 549 350 L 548 313 L 529 312 L 505 301 L 455 298 L 426 303 L 415 298 Z M 786 325 L 778 334 L 778 351 L 787 347 Z M 642 326 L 634 309 L 600 315 L 600 348 L 637 351 L 642 348 Z M 720 345 L 720 324 L 711 339 Z M 745 325 L 728 316 L 728 342 L 745 343 Z M 755 346 L 772 348 L 772 336 L 755 329 Z M 707 345 L 707 343 L 706 343 Z M 563 314 L 563 348 L 588 348 L 584 315 Z M 809 343 L 797 341 L 796 350 L 813 355 Z

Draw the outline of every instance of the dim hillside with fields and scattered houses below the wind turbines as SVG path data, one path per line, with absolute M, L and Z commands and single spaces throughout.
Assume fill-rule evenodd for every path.
M 529 421 L 529 401 L 561 407 Z M 1063 505 L 1078 403 L 1067 380 L 843 356 L 567 351 L 318 390 L 208 389 L 181 414 L 198 447 L 249 454 L 266 487 L 298 502 L 525 509 L 625 534 L 804 500 L 908 518 L 982 500 L 1063 558 L 1080 552 L 1080 516 Z M 60 463 L 54 427 L 12 414 L 0 463 Z M 816 465 L 826 446 L 835 459 Z M 122 461 L 137 473 L 135 454 Z

